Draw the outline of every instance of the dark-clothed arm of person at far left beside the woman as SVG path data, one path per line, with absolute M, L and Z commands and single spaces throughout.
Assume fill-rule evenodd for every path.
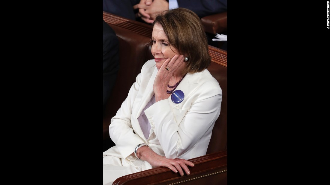
M 103 106 L 116 82 L 119 70 L 119 41 L 115 31 L 103 20 Z

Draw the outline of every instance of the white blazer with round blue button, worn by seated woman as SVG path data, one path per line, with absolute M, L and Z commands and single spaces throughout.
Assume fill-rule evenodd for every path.
M 103 152 L 103 156 L 116 156 L 134 165 L 140 159 L 130 154 L 140 143 L 148 144 L 151 150 L 167 158 L 191 159 L 206 154 L 220 114 L 219 83 L 207 69 L 188 73 L 175 89 L 184 93 L 181 103 L 173 103 L 170 96 L 145 110 L 151 125 L 149 138 L 145 138 L 138 117 L 154 95 L 153 82 L 158 72 L 155 64 L 152 59 L 143 65 L 126 100 L 111 119 L 109 132 L 116 146 Z M 152 168 L 146 161 L 143 164 L 143 169 Z

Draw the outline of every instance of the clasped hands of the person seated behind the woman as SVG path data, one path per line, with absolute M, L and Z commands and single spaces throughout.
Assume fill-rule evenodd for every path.
M 169 9 L 169 3 L 166 0 L 141 0 L 133 8 L 139 9 L 135 14 L 136 17 L 141 17 L 146 23 L 151 24 L 158 13 Z

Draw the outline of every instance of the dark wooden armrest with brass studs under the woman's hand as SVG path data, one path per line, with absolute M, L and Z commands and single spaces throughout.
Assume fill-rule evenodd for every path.
M 227 150 L 189 159 L 195 164 L 181 176 L 166 167 L 156 167 L 117 178 L 113 185 L 227 184 Z

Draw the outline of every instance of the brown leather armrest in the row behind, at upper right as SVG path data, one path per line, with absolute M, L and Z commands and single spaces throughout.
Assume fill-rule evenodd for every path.
M 205 32 L 216 34 L 227 31 L 227 12 L 201 18 Z

